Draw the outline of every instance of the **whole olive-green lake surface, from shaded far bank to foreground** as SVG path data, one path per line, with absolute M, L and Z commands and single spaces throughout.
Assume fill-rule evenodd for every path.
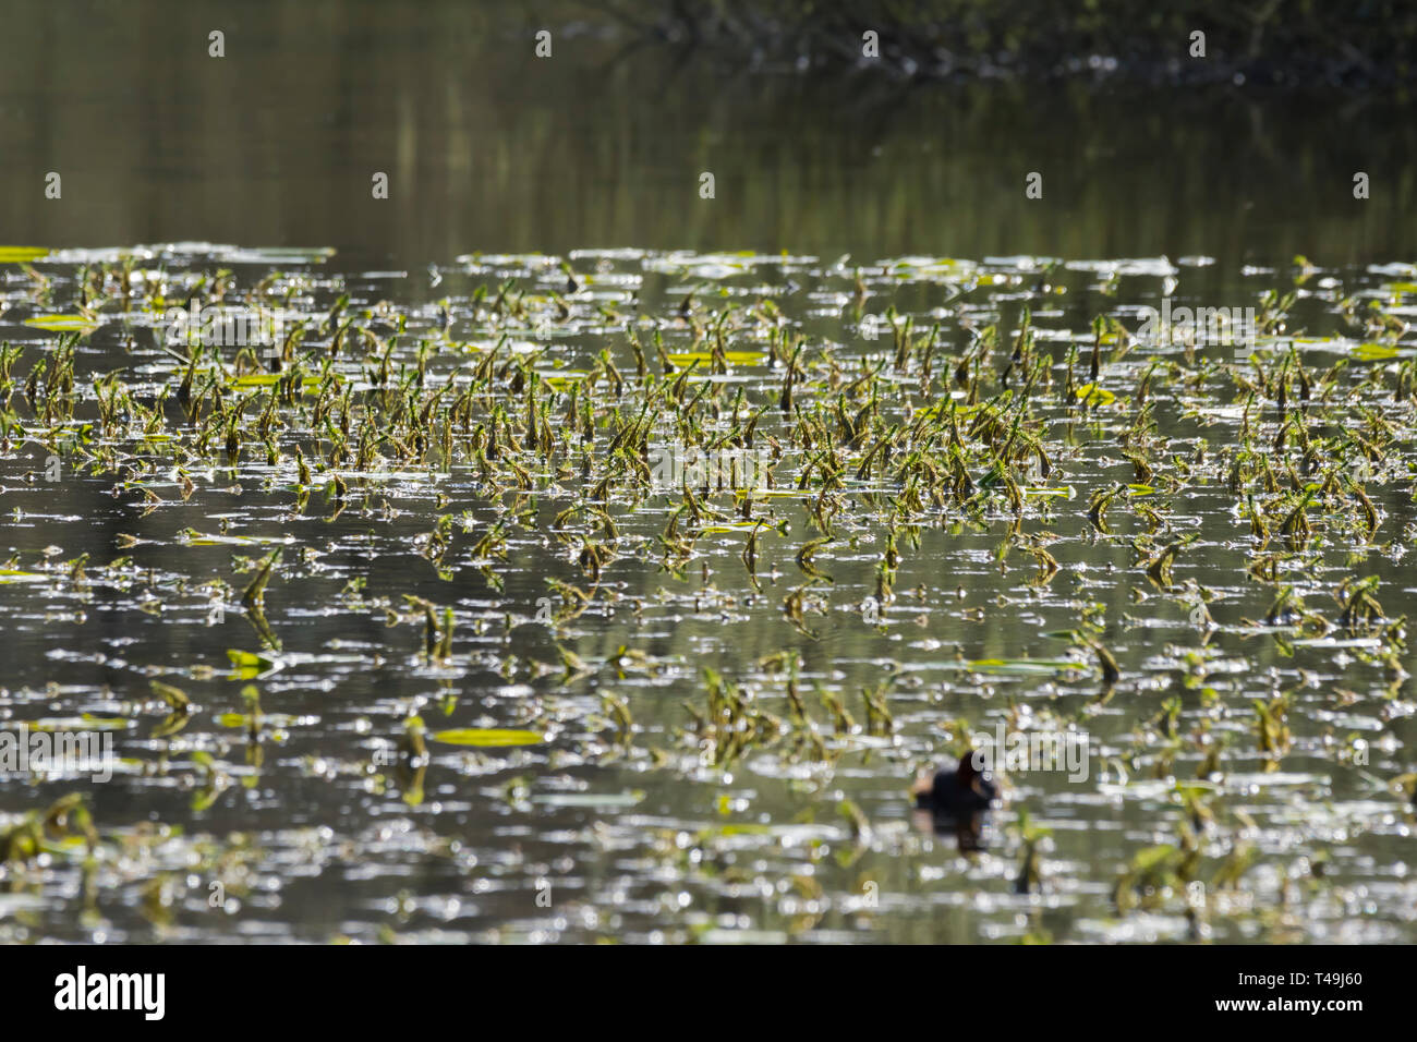
M 35 858 L 0 869 L 0 936 L 1413 937 L 1401 790 L 1417 733 L 1394 620 L 1417 614 L 1411 336 L 1400 327 L 1417 274 L 1404 220 L 1411 121 L 1400 112 L 1081 86 L 897 92 L 623 55 L 570 34 L 538 62 L 520 16 L 452 6 L 418 17 L 370 6 L 357 34 L 320 4 L 220 17 L 184 6 L 150 24 L 85 10 L 78 38 L 41 9 L 0 44 L 0 130 L 7 156 L 24 157 L 0 169 L 0 240 L 55 251 L 0 252 L 0 339 L 24 349 L 0 447 L 0 551 L 11 559 L 0 723 L 108 727 L 120 763 L 103 784 L 0 777 L 0 827 L 77 791 L 96 829 L 92 851 L 51 829 Z M 205 33 L 224 23 L 217 62 Z M 1366 201 L 1352 198 L 1355 169 L 1373 177 Z M 43 197 L 48 170 L 62 173 L 61 200 Z M 380 170 L 387 201 L 370 198 Z M 699 197 L 706 170 L 713 200 Z M 1043 200 L 1023 197 L 1030 170 L 1044 173 Z M 241 248 L 137 245 L 174 241 Z M 228 301 L 283 301 L 310 323 L 282 373 L 307 356 L 316 384 L 333 371 L 349 390 L 349 459 L 326 459 L 334 442 L 310 414 L 317 387 L 289 386 L 262 431 L 265 363 L 234 347 L 210 352 L 203 377 L 224 388 L 222 408 L 251 396 L 241 454 L 225 452 L 227 427 L 198 444 L 213 401 L 196 418 L 179 401 L 183 366 L 156 343 L 153 302 L 208 299 L 220 271 L 231 272 Z M 509 279 L 517 306 L 496 299 Z M 1264 313 L 1268 291 L 1297 299 L 1270 312 L 1258 363 L 1230 346 L 1135 337 L 1136 308 L 1163 295 Z M 351 337 L 322 369 L 339 322 L 319 326 L 344 295 L 370 339 Z M 1357 310 L 1345 316 L 1346 301 Z M 1389 320 L 1365 323 L 1369 302 Z M 1047 474 L 1019 462 L 1013 502 L 971 448 L 979 499 L 917 474 L 915 505 L 903 441 L 901 455 L 857 475 L 871 438 L 1005 390 L 1024 305 L 1047 359 L 1027 405 Z M 716 360 L 711 329 L 730 306 Z M 928 377 L 920 352 L 903 371 L 890 364 L 888 327 L 863 335 L 862 315 L 891 306 L 914 319 L 914 337 L 939 325 Z M 1068 349 L 1076 391 L 1102 313 L 1131 336 L 1112 333 L 1100 352 L 1105 394 L 1070 394 Z M 971 403 L 956 370 L 989 325 L 1002 346 L 981 363 Z M 825 442 L 798 444 L 778 408 L 782 330 L 806 337 L 796 404 L 823 411 L 846 465 L 837 483 L 819 469 L 796 495 L 755 499 L 750 516 L 772 522 L 755 588 L 741 560 L 752 526 L 734 520 L 731 492 L 710 489 L 704 516 L 682 512 L 666 543 L 683 498 L 612 471 L 609 447 L 646 387 L 697 360 L 653 445 L 673 441 L 670 417 L 700 393 L 717 400 L 713 422 L 731 424 L 741 388 L 741 417 L 768 407 L 755 444 L 782 447 L 778 491 L 796 492 Z M 1284 335 L 1295 333 L 1288 356 Z M 74 335 L 72 387 L 41 371 L 31 398 L 35 362 L 62 357 Z M 424 405 L 452 380 L 421 448 L 418 424 L 388 420 L 391 387 L 412 379 L 419 354 L 425 376 L 404 394 Z M 453 424 L 445 455 L 446 410 L 489 356 L 486 398 L 468 431 Z M 1298 362 L 1284 370 L 1285 357 Z M 863 360 L 886 366 L 864 421 L 853 420 L 870 401 L 853 384 Z M 1155 428 L 1128 438 L 1153 362 Z M 517 447 L 489 478 L 463 435 L 490 422 L 493 403 L 523 401 L 516 381 L 533 370 L 554 422 L 530 439 L 509 413 Z M 1302 407 L 1301 370 L 1312 383 Z M 589 476 L 584 432 L 565 418 L 587 376 Z M 136 405 L 106 413 L 116 387 Z M 871 432 L 856 447 L 837 401 Z M 1298 428 L 1274 449 L 1295 413 L 1314 452 Z M 710 422 L 707 407 L 696 415 Z M 961 420 L 971 447 L 989 441 L 971 430 L 978 417 Z M 360 465 L 364 425 L 397 444 Z M 1241 459 L 1246 427 L 1271 451 Z M 1340 474 L 1366 491 L 1376 527 Z M 1314 532 L 1287 537 L 1308 481 L 1326 485 L 1305 508 Z M 1088 505 L 1118 483 L 1131 488 L 1100 530 Z M 561 515 L 588 503 L 611 523 Z M 813 505 L 829 508 L 828 525 Z M 898 563 L 883 595 L 893 527 Z M 1173 574 L 1148 577 L 1185 534 L 1199 539 Z M 264 607 L 245 611 L 242 590 L 276 546 Z M 588 549 L 609 556 L 599 576 Z M 1275 571 L 1254 574 L 1267 557 Z M 1380 617 L 1343 618 L 1345 580 L 1366 577 Z M 547 580 L 594 597 L 580 605 Z M 1264 625 L 1285 588 L 1302 611 Z M 452 610 L 446 648 L 429 654 L 425 612 L 407 597 L 436 605 L 435 635 Z M 1202 603 L 1214 625 L 1196 614 Z M 1115 685 L 1067 635 L 1080 629 L 1115 656 Z M 704 668 L 738 686 L 726 716 L 714 717 L 723 699 Z M 171 719 L 153 679 L 193 707 Z M 258 722 L 247 685 L 259 690 Z M 880 685 L 884 722 L 863 698 Z M 1254 700 L 1272 713 L 1275 698 L 1287 710 L 1263 749 Z M 401 749 L 414 713 L 422 770 Z M 905 790 L 962 733 L 992 733 L 996 720 L 1076 729 L 1090 771 L 1015 774 L 983 849 L 966 856 L 911 815 Z M 466 729 L 493 734 L 435 734 Z M 520 744 L 486 744 L 497 740 Z M 1189 882 L 1204 885 L 1199 897 Z

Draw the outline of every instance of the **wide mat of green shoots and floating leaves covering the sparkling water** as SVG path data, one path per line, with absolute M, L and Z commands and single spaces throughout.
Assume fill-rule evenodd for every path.
M 1410 939 L 1417 269 L 1206 264 L 0 248 L 0 712 L 170 822 L 4 780 L 0 936 Z

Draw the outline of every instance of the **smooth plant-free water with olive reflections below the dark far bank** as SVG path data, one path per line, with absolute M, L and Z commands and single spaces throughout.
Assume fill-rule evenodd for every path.
M 1231 265 L 1413 250 L 1414 123 L 1387 99 L 748 75 L 574 30 L 537 60 L 517 4 L 68 7 L 13 11 L 0 41 L 0 135 L 23 156 L 0 169 L 10 241 L 327 244 L 419 272 L 594 245 Z M 62 200 L 41 196 L 50 170 Z

